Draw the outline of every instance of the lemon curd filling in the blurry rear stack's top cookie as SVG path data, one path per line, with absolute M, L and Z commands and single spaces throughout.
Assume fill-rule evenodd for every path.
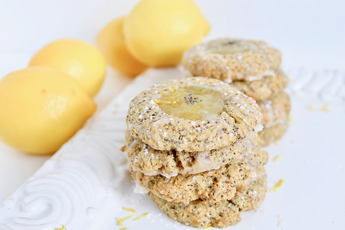
M 248 52 L 250 50 L 255 50 L 256 48 L 256 45 L 250 42 L 228 41 L 212 44 L 207 48 L 207 51 L 210 53 L 227 55 Z

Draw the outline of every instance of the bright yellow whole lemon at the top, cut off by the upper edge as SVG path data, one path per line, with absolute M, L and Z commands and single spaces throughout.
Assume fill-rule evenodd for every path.
M 124 22 L 127 48 L 148 66 L 179 64 L 200 43 L 209 24 L 192 0 L 142 0 Z

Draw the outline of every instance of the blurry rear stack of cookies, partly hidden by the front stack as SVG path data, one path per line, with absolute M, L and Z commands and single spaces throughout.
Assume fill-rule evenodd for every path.
M 258 102 L 264 126 L 260 146 L 279 139 L 288 127 L 290 98 L 283 91 L 288 79 L 280 63 L 281 53 L 267 43 L 230 38 L 195 46 L 182 58 L 192 76 L 223 80 Z

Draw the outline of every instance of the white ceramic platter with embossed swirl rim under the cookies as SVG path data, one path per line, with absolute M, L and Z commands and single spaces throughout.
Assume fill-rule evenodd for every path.
M 345 73 L 299 69 L 288 74 L 291 125 L 267 148 L 266 167 L 269 189 L 280 179 L 283 183 L 229 229 L 345 229 Z M 134 192 L 119 150 L 129 101 L 154 83 L 181 76 L 177 69 L 150 69 L 136 78 L 0 204 L 0 230 L 194 229 Z M 281 158 L 274 161 L 277 155 Z M 117 225 L 117 218 L 129 216 Z

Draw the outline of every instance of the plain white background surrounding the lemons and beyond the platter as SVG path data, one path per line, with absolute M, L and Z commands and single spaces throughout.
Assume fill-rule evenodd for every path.
M 95 43 L 96 34 L 106 23 L 127 14 L 137 2 L 1 0 L 0 77 L 24 68 L 35 51 L 55 39 L 70 37 Z M 286 68 L 344 69 L 344 0 L 196 2 L 211 24 L 206 40 L 225 36 L 263 39 L 282 51 Z M 118 94 L 129 81 L 110 70 L 102 102 Z M 0 201 L 45 159 L 47 157 L 26 156 L 0 143 Z

